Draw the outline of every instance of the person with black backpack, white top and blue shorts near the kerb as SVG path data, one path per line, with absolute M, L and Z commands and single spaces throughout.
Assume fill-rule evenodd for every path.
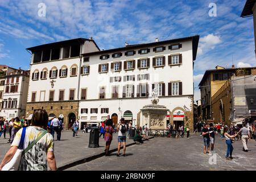
M 126 132 L 127 132 L 127 125 L 125 124 L 125 118 L 121 118 L 121 124 L 118 125 L 118 148 L 117 148 L 117 156 L 120 155 L 120 147 L 123 143 L 123 156 L 125 156 L 126 150 Z

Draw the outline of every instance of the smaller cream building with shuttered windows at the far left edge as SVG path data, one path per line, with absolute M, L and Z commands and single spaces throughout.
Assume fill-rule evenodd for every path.
M 29 71 L 22 69 L 6 69 L 0 114 L 2 117 L 9 120 L 25 115 L 29 75 Z

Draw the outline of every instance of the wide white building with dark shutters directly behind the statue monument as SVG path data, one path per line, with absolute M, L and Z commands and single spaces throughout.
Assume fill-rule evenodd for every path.
M 171 123 L 193 128 L 193 63 L 199 36 L 84 53 L 80 82 L 80 121 L 117 123 L 121 117 L 142 126 L 140 109 L 159 104 L 169 109 Z M 89 70 L 89 72 L 88 72 Z

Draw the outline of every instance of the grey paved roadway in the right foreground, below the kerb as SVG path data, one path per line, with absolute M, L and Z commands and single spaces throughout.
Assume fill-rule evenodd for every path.
M 67 170 L 255 170 L 256 142 L 249 141 L 249 152 L 242 151 L 241 140 L 233 143 L 233 147 L 234 159 L 226 160 L 226 143 L 220 135 L 216 135 L 216 152 L 212 156 L 203 154 L 203 137 L 199 135 L 192 135 L 190 139 L 159 137 L 127 147 L 125 157 L 112 154 Z

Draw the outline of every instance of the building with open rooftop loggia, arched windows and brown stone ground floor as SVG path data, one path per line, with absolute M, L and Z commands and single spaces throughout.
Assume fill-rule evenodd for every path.
M 79 115 L 80 55 L 100 49 L 94 40 L 79 38 L 27 50 L 32 57 L 26 116 L 31 118 L 34 109 L 46 109 L 49 118 L 61 117 L 68 127 Z

